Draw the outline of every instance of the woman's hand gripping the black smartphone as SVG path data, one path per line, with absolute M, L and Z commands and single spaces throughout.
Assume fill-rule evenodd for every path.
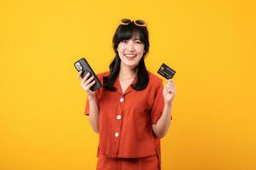
M 81 77 L 82 71 L 78 72 L 78 78 L 81 82 L 81 87 L 86 91 L 86 93 L 88 94 L 88 96 L 94 96 L 95 92 L 92 91 L 90 88 L 94 85 L 95 80 L 94 80 L 94 76 L 89 77 L 90 73 L 88 72 L 85 77 Z M 93 81 L 94 80 L 94 81 Z M 93 81 L 93 82 L 92 82 Z

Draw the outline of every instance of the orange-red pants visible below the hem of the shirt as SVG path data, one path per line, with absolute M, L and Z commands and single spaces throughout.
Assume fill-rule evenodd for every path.
M 111 158 L 100 155 L 97 170 L 160 170 L 156 155 L 139 158 Z

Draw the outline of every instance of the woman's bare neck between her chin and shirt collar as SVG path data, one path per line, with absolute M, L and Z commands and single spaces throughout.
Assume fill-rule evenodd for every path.
M 137 69 L 130 68 L 127 65 L 123 65 L 121 62 L 120 71 L 118 77 L 122 80 L 133 79 L 137 75 Z

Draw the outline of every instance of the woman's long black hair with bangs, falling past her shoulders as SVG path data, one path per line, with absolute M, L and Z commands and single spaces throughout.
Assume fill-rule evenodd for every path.
M 117 30 L 114 34 L 112 43 L 113 43 L 113 48 L 115 51 L 115 58 L 111 62 L 111 65 L 109 66 L 110 69 L 110 74 L 108 77 L 103 77 L 103 88 L 106 88 L 110 91 L 116 91 L 117 88 L 114 87 L 114 82 L 118 77 L 119 71 L 120 71 L 120 64 L 121 64 L 121 59 L 119 58 L 118 52 L 117 52 L 117 47 L 119 42 L 122 42 L 123 40 L 129 40 L 134 35 L 139 33 L 139 38 L 140 41 L 144 43 L 144 54 L 139 60 L 139 65 L 137 66 L 138 71 L 137 71 L 137 82 L 135 84 L 132 84 L 132 88 L 135 90 L 143 90 L 146 88 L 148 82 L 149 82 L 149 74 L 148 71 L 145 68 L 145 56 L 149 52 L 150 48 L 150 42 L 149 42 L 149 32 L 145 26 L 136 26 L 134 24 L 134 21 L 131 22 L 128 25 L 120 25 L 117 27 Z

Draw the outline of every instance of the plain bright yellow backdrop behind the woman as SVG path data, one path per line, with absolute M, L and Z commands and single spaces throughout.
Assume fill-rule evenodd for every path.
M 162 169 L 256 169 L 255 3 L 244 0 L 1 1 L 0 169 L 95 168 L 73 63 L 107 71 L 122 18 L 147 21 L 150 71 L 177 71 Z

